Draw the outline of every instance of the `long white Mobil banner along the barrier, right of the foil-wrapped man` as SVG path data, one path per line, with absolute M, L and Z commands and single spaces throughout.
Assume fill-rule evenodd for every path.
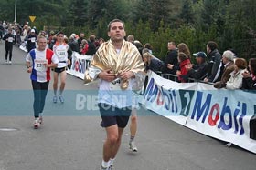
M 143 104 L 180 125 L 256 153 L 255 101 L 250 92 L 176 83 L 150 73 Z

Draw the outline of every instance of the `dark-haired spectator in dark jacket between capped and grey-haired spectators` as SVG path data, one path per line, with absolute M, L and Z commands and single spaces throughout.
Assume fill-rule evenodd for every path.
M 217 43 L 213 41 L 209 41 L 207 45 L 207 52 L 208 52 L 208 76 L 204 79 L 205 82 L 216 82 L 218 78 L 218 70 L 221 61 L 221 55 L 218 51 Z

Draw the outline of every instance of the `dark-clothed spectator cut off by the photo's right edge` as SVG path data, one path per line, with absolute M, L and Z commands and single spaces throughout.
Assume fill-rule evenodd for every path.
M 242 86 L 241 89 L 256 90 L 256 58 L 249 60 L 249 70 L 251 72 L 244 72 L 242 74 Z

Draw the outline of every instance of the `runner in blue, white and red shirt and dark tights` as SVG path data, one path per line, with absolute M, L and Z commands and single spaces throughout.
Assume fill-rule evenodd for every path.
M 53 55 L 53 52 L 46 46 L 47 38 L 39 35 L 37 48 L 32 49 L 26 57 L 27 73 L 31 73 L 30 79 L 34 92 L 34 128 L 38 128 L 43 120 L 42 113 L 48 93 L 50 67 L 56 67 L 59 63 L 57 56 Z

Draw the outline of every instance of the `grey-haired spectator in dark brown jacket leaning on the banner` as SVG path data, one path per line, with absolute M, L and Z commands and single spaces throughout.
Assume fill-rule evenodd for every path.
M 226 83 L 229 81 L 230 73 L 234 71 L 234 53 L 230 50 L 227 50 L 222 55 L 222 63 L 224 65 L 223 74 L 220 75 L 220 81 L 214 84 L 215 88 L 223 88 L 225 87 Z

